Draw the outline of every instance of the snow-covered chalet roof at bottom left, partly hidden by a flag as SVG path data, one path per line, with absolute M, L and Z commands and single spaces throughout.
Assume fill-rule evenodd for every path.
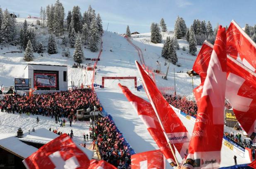
M 36 129 L 35 132 L 30 131 L 23 133 L 22 138 L 16 137 L 16 134 L 0 134 L 0 148 L 7 150 L 8 152 L 25 159 L 29 157 L 32 153 L 36 152 L 38 149 L 29 146 L 26 143 L 22 142 L 31 142 L 31 143 L 39 143 L 39 144 L 46 144 L 52 141 L 54 138 L 58 137 L 58 134 L 54 134 L 53 132 L 49 131 L 48 129 Z M 76 144 L 76 143 L 75 143 Z M 84 148 L 78 144 L 76 144 L 78 148 L 80 148 L 89 159 L 92 158 L 93 152 Z

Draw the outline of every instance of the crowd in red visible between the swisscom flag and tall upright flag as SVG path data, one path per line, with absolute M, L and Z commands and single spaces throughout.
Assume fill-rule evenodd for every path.
M 197 105 L 195 102 L 189 101 L 186 98 L 182 98 L 181 96 L 164 95 L 164 98 L 175 108 L 180 109 L 187 115 L 196 117 Z

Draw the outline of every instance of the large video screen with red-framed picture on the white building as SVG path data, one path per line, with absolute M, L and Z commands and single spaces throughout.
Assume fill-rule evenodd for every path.
M 57 75 L 34 73 L 34 87 L 57 87 Z

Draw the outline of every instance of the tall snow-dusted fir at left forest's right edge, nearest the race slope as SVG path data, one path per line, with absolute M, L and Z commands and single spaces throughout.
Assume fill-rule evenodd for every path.
M 96 19 L 92 21 L 90 29 L 91 29 L 90 50 L 92 52 L 96 52 L 98 50 L 98 44 L 100 40 L 99 29 L 98 29 Z

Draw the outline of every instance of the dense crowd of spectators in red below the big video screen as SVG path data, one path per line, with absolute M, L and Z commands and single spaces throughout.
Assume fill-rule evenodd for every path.
M 47 94 L 34 94 L 29 98 L 24 95 L 6 95 L 0 100 L 1 111 L 8 113 L 29 113 L 36 115 L 53 115 L 74 117 L 76 110 L 94 106 L 100 109 L 100 103 L 92 89 L 74 89 Z

